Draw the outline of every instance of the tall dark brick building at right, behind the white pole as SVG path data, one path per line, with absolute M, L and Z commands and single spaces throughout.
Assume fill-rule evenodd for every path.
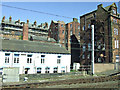
M 95 30 L 95 62 L 120 61 L 120 14 L 117 6 L 97 6 L 97 10 L 80 16 L 80 63 L 91 64 L 91 24 Z

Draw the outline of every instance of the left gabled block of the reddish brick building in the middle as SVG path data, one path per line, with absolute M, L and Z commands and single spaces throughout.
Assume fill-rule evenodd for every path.
M 48 36 L 54 38 L 58 43 L 65 47 L 65 23 L 64 21 L 51 21 Z

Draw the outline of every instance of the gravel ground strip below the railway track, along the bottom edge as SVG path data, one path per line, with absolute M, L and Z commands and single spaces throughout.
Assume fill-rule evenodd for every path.
M 70 84 L 70 85 L 54 85 L 38 88 L 120 88 L 118 81 L 86 83 L 86 84 Z

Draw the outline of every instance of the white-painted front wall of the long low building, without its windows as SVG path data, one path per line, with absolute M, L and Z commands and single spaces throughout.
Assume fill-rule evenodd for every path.
M 10 63 L 5 63 L 5 53 L 10 53 Z M 19 63 L 14 63 L 14 54 L 19 54 Z M 27 63 L 27 55 L 32 54 L 32 63 Z M 41 55 L 45 55 L 45 63 L 41 64 Z M 57 57 L 61 56 L 61 63 L 57 64 Z M 25 68 L 30 68 L 28 74 L 37 73 L 37 67 L 42 68 L 42 73 L 45 73 L 45 68 L 50 68 L 50 73 L 53 73 L 53 68 L 58 67 L 58 73 L 62 70 L 70 72 L 70 54 L 44 54 L 44 53 L 23 53 L 23 52 L 0 52 L 0 67 L 19 67 L 19 74 L 25 73 Z

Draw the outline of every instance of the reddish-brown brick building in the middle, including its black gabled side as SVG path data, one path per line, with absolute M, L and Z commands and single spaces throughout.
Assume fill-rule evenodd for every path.
M 79 62 L 80 23 L 78 19 L 73 18 L 73 21 L 67 24 L 63 21 L 51 21 L 48 36 L 71 52 L 71 66 L 73 62 Z

